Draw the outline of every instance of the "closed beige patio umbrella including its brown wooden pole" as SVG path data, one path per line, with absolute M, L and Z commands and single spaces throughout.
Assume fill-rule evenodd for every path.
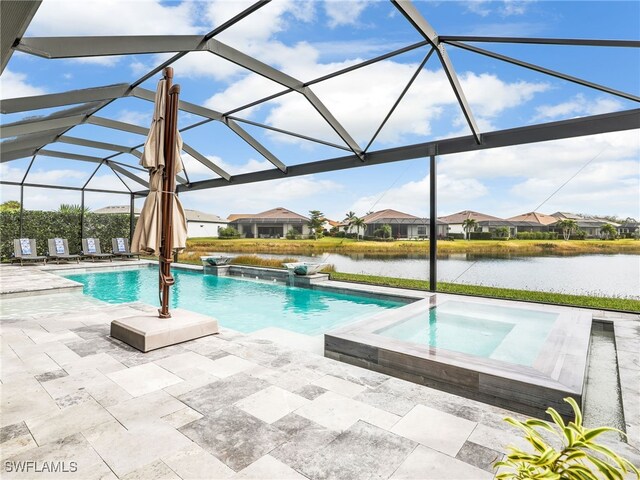
M 147 196 L 133 238 L 131 251 L 158 255 L 161 318 L 168 318 L 169 287 L 173 285 L 171 257 L 183 250 L 187 241 L 187 222 L 180 200 L 175 195 L 176 174 L 181 172 L 182 139 L 177 130 L 180 87 L 171 86 L 173 69 L 164 70 L 158 82 L 153 121 L 144 145 L 140 164 L 149 170 Z

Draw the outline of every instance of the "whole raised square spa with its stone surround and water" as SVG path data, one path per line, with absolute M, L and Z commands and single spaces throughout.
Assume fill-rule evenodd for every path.
M 325 356 L 527 415 L 582 405 L 591 315 L 436 294 L 325 334 Z

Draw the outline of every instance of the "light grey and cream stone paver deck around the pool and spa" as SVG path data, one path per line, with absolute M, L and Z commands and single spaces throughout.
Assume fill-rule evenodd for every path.
M 144 262 L 116 263 L 0 266 L 2 478 L 482 480 L 507 445 L 524 446 L 502 421 L 518 414 L 272 329 L 133 350 L 110 322 L 153 307 L 108 305 L 51 273 Z M 640 315 L 592 313 L 614 325 L 630 436 L 607 442 L 640 464 Z M 19 461 L 36 463 L 10 472 Z M 34 473 L 44 462 L 77 471 Z

